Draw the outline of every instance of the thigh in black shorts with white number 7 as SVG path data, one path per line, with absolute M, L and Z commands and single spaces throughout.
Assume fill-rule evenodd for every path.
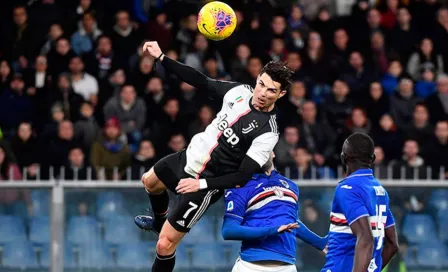
M 199 191 L 182 194 L 178 203 L 170 213 L 168 221 L 180 232 L 189 232 L 201 219 L 208 207 L 215 203 L 222 195 L 220 190 Z

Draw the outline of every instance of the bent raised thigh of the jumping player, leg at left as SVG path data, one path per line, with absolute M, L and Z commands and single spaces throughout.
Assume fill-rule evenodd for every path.
M 148 184 L 145 182 L 145 188 L 156 189 L 168 188 L 172 192 L 175 192 L 179 180 L 184 177 L 183 168 L 186 164 L 185 151 L 170 154 L 160 159 L 150 170 Z M 163 187 L 162 187 L 163 186 Z

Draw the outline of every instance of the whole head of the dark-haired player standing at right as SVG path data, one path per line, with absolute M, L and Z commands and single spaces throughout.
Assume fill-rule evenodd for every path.
M 341 162 L 345 172 L 360 168 L 371 168 L 375 161 L 375 145 L 365 133 L 353 133 L 342 146 Z

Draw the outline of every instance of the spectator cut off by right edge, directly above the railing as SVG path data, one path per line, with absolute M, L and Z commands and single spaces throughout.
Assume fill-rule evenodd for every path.
M 427 165 L 432 168 L 432 177 L 437 179 L 448 178 L 448 121 L 439 121 L 436 124 L 435 139 L 426 142 L 424 152 Z M 440 168 L 445 173 L 440 173 Z

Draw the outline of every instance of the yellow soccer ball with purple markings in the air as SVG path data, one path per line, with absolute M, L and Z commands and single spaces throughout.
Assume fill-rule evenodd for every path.
M 198 29 L 207 39 L 224 40 L 236 27 L 235 11 L 226 3 L 213 1 L 199 11 Z

